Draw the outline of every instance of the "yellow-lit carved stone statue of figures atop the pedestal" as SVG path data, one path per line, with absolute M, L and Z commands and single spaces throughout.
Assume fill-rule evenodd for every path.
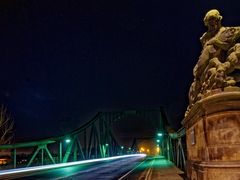
M 208 28 L 200 41 L 202 52 L 194 67 L 194 82 L 189 90 L 191 107 L 213 91 L 221 92 L 226 87 L 238 86 L 240 82 L 240 27 L 223 27 L 222 16 L 216 9 L 204 17 Z

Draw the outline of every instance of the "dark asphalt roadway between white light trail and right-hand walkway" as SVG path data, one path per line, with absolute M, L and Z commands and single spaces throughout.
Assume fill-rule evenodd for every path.
M 103 162 L 86 163 L 69 167 L 54 168 L 50 170 L 30 171 L 10 175 L 1 175 L 0 179 L 24 179 L 24 180 L 42 180 L 42 179 L 118 179 L 124 173 L 134 168 L 143 161 L 144 157 L 134 156 L 125 157 Z

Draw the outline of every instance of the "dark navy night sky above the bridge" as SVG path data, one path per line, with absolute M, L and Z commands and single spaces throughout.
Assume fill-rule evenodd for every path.
M 16 141 L 132 108 L 165 106 L 178 129 L 212 8 L 240 25 L 237 0 L 1 0 L 0 104 Z

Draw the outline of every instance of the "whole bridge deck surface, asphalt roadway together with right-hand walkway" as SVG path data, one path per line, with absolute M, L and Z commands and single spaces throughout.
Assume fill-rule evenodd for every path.
M 183 174 L 164 157 L 132 156 L 1 176 L 24 180 L 182 180 Z

